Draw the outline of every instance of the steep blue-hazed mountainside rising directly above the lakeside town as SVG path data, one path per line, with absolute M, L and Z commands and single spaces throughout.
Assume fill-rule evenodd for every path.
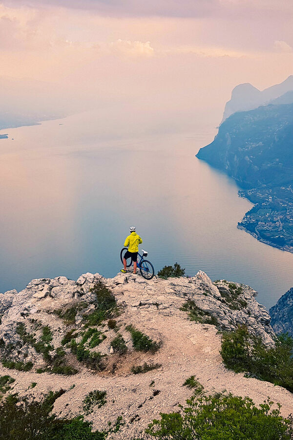
M 197 157 L 243 188 L 281 185 L 293 175 L 293 104 L 234 113 Z

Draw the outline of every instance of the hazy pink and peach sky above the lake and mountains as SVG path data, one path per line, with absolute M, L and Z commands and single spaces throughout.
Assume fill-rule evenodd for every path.
M 237 84 L 293 74 L 292 23 L 292 0 L 4 0 L 0 112 L 95 109 L 109 135 L 216 126 Z

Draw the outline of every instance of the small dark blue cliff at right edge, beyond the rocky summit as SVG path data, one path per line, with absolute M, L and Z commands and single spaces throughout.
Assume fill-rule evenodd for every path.
M 272 327 L 276 333 L 288 332 L 293 336 L 293 287 L 270 308 Z

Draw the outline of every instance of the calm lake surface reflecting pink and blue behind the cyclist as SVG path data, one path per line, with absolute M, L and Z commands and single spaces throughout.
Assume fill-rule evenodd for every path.
M 0 140 L 0 291 L 32 278 L 114 276 L 130 224 L 156 270 L 177 261 L 188 275 L 246 283 L 267 307 L 293 285 L 293 255 L 239 231 L 250 203 L 195 157 L 209 128 L 101 140 L 92 114 L 60 122 L 6 129 Z

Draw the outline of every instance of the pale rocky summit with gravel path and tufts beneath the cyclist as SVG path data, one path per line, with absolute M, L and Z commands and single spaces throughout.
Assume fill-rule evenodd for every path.
M 84 414 L 100 430 L 122 418 L 112 439 L 142 436 L 160 412 L 184 404 L 190 376 L 208 393 L 226 390 L 256 403 L 270 396 L 288 416 L 291 393 L 227 370 L 219 352 L 221 331 L 242 324 L 274 344 L 270 315 L 256 295 L 202 271 L 151 281 L 132 273 L 35 279 L 0 294 L 0 375 L 15 379 L 9 392 L 20 396 L 63 389 L 58 417 Z M 94 390 L 100 404 L 89 410 L 86 396 Z

